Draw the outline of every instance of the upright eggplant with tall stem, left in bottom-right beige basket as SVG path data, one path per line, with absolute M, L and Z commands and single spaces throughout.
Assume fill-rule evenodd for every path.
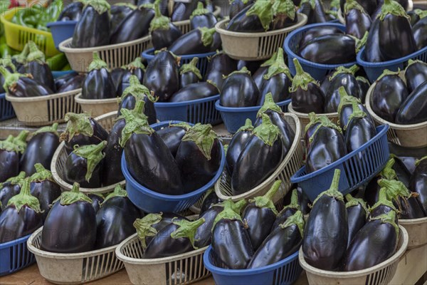
M 330 189 L 317 196 L 305 224 L 302 254 L 317 269 L 339 269 L 346 254 L 349 227 L 344 197 L 338 191 L 340 174 L 336 169 Z

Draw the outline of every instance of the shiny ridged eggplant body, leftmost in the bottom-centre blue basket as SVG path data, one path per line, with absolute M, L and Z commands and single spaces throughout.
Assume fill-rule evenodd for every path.
M 233 242 L 231 242 L 233 241 Z M 212 232 L 214 258 L 226 269 L 246 269 L 253 257 L 251 238 L 243 222 L 238 219 L 221 219 Z

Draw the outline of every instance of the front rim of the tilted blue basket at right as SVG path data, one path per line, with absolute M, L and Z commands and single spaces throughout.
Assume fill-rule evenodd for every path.
M 327 167 L 322 167 L 320 170 L 316 170 L 315 172 L 306 173 L 305 175 L 301 175 L 302 172 L 305 171 L 305 165 L 300 168 L 292 177 L 290 177 L 290 181 L 292 183 L 298 183 L 306 180 L 313 179 L 314 177 L 317 177 L 319 175 L 322 175 L 323 173 L 334 169 L 337 167 L 337 165 L 341 165 L 345 161 L 349 160 L 349 158 L 357 156 L 361 150 L 366 149 L 367 147 L 370 147 L 374 142 L 380 140 L 384 137 L 384 135 L 387 134 L 387 131 L 389 130 L 389 125 L 379 125 L 376 127 L 376 135 L 374 138 L 371 138 L 368 142 L 365 142 L 361 147 L 359 147 L 357 150 L 353 150 L 352 152 L 347 153 L 347 155 L 344 155 L 339 160 L 336 160 L 332 162 Z

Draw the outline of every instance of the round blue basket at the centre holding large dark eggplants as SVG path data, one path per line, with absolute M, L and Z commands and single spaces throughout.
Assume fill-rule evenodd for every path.
M 167 127 L 170 123 L 179 123 L 177 121 L 161 122 L 154 125 L 151 125 L 154 130 L 160 130 L 161 128 Z M 221 142 L 220 142 L 221 144 Z M 226 155 L 221 144 L 221 163 L 219 165 L 218 172 L 211 181 L 209 181 L 204 187 L 201 187 L 198 190 L 190 192 L 185 195 L 164 195 L 152 190 L 147 189 L 146 187 L 140 185 L 133 177 L 130 175 L 129 170 L 127 170 L 125 152 L 122 154 L 122 172 L 125 175 L 126 179 L 126 190 L 129 199 L 135 206 L 142 209 L 144 212 L 148 213 L 158 213 L 158 212 L 181 212 L 185 209 L 188 209 L 193 204 L 199 200 L 199 198 L 204 195 L 204 192 L 213 187 L 216 181 L 221 177 L 223 172 L 224 165 L 226 163 Z

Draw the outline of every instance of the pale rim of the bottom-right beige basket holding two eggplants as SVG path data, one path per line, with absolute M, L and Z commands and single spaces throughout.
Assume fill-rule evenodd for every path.
M 314 266 L 307 264 L 307 261 L 305 261 L 304 259 L 304 254 L 302 253 L 302 247 L 300 248 L 299 254 L 298 254 L 300 265 L 302 266 L 302 269 L 304 269 L 305 271 L 317 276 L 339 278 L 339 279 L 349 279 L 354 277 L 367 276 L 376 271 L 384 269 L 386 266 L 389 266 L 389 264 L 392 264 L 393 262 L 399 262 L 399 259 L 405 254 L 406 248 L 408 247 L 409 236 L 408 236 L 408 232 L 404 227 L 399 225 L 399 229 L 400 229 L 399 238 L 403 239 L 401 247 L 397 250 L 395 254 L 393 254 L 388 259 L 382 261 L 379 264 L 371 266 L 367 269 L 362 269 L 357 271 L 328 271 L 328 270 L 317 269 Z

